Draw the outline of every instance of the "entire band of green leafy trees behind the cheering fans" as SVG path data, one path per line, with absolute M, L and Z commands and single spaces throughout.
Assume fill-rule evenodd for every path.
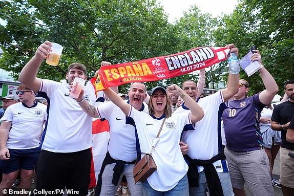
M 256 45 L 263 64 L 274 76 L 282 94 L 283 82 L 293 79 L 294 1 L 240 0 L 234 12 L 213 18 L 197 6 L 175 24 L 167 22 L 163 8 L 155 0 L 14 0 L 0 2 L 1 68 L 15 78 L 37 47 L 45 40 L 64 46 L 58 67 L 45 62 L 38 77 L 64 78 L 71 62 L 86 65 L 89 77 L 100 62 L 113 64 L 183 52 L 201 46 L 224 47 L 235 43 L 239 58 Z M 206 83 L 226 81 L 226 61 L 206 69 Z M 197 73 L 197 72 L 196 72 Z M 258 73 L 241 77 L 251 84 L 250 94 L 264 89 Z M 197 74 L 151 82 L 166 87 Z M 128 85 L 119 87 L 127 92 Z

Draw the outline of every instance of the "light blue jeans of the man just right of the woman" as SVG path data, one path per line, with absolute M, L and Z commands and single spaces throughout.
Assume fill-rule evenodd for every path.
M 232 183 L 230 182 L 229 172 L 219 173 L 218 176 L 222 185 L 224 196 L 234 195 Z M 205 189 L 207 188 L 207 181 L 204 170 L 199 173 L 198 179 L 199 187 L 189 187 L 190 196 L 206 196 Z

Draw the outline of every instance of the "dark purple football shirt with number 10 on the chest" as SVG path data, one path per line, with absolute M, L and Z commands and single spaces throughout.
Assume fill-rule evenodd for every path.
M 259 128 L 262 108 L 259 94 L 241 100 L 231 100 L 223 112 L 226 147 L 233 151 L 250 151 L 263 147 Z

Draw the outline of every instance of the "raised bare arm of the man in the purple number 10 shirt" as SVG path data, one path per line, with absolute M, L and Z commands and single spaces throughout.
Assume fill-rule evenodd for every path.
M 262 64 L 259 51 L 254 50 L 254 52 L 256 53 L 254 53 L 251 56 L 251 60 L 258 60 L 259 63 Z M 275 79 L 270 75 L 270 73 L 265 69 L 265 67 L 262 66 L 262 68 L 259 69 L 259 73 L 263 81 L 263 84 L 265 85 L 265 90 L 259 94 L 259 99 L 263 104 L 267 105 L 271 102 L 272 99 L 274 99 L 275 95 L 279 91 L 279 87 Z

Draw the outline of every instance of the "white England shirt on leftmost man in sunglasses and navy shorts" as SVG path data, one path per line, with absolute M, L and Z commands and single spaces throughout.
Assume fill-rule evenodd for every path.
M 32 107 L 23 103 L 10 105 L 2 117 L 12 123 L 6 143 L 11 149 L 36 148 L 40 144 L 42 127 L 47 119 L 47 106 L 36 102 Z

